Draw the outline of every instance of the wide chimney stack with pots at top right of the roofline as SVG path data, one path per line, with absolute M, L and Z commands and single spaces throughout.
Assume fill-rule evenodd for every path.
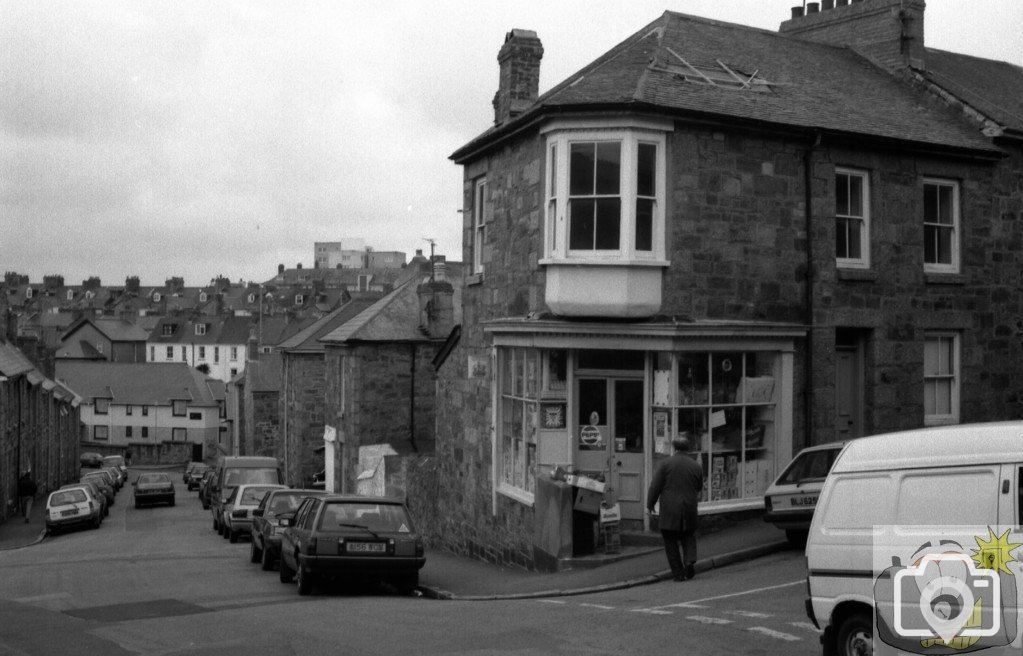
M 820 11 L 793 17 L 779 28 L 788 37 L 847 46 L 889 71 L 924 68 L 924 0 L 826 1 Z

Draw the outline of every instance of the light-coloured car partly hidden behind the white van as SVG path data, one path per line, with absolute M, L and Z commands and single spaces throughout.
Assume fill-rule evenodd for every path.
M 806 541 L 825 479 L 846 443 L 804 448 L 764 492 L 764 521 L 783 529 L 792 544 L 801 546 Z

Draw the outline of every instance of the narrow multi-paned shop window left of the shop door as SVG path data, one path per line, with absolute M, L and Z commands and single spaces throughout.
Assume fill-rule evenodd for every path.
M 497 488 L 530 502 L 536 489 L 540 383 L 539 351 L 500 351 Z

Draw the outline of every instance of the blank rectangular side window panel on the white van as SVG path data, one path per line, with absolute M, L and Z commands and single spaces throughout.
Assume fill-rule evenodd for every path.
M 907 474 L 899 484 L 895 522 L 903 526 L 998 523 L 997 470 Z

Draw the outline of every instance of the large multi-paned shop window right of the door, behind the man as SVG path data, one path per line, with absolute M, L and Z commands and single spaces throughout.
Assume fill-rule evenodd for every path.
M 675 435 L 704 469 L 703 500 L 762 496 L 775 471 L 772 353 L 660 353 L 655 359 L 655 461 Z M 673 383 L 677 381 L 677 383 Z

